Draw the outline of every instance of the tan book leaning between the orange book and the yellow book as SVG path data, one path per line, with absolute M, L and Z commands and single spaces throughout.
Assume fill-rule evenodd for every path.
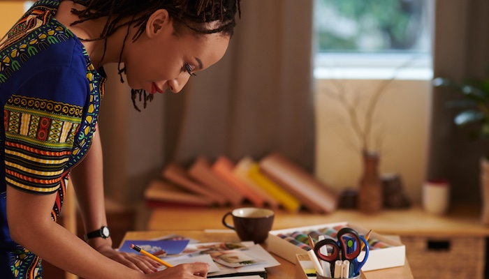
M 270 206 L 270 208 L 279 208 L 280 204 L 277 199 L 275 199 L 275 197 L 272 197 L 272 195 L 268 194 L 258 184 L 256 184 L 255 181 L 249 178 L 249 167 L 251 167 L 251 164 L 253 163 L 255 163 L 254 160 L 251 159 L 251 157 L 249 156 L 246 156 L 239 160 L 233 169 L 233 174 L 235 178 L 241 181 L 241 183 L 245 184 L 247 188 L 253 189 L 256 195 L 259 195 L 261 199 L 263 199 L 265 204 L 268 204 L 268 206 Z

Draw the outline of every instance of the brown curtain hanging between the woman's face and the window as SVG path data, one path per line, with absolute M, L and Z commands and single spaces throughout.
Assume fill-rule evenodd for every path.
M 259 159 L 277 150 L 311 169 L 311 34 L 312 1 L 243 1 L 224 59 L 166 99 L 167 123 L 180 120 L 166 158 Z

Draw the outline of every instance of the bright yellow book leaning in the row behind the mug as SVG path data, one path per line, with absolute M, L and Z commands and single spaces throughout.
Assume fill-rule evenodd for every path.
M 280 188 L 277 183 L 268 179 L 267 176 L 261 173 L 260 167 L 257 163 L 252 163 L 249 167 L 248 176 L 251 180 L 255 181 L 263 190 L 275 197 L 277 201 L 284 206 L 286 211 L 295 213 L 300 209 L 300 202 L 293 197 L 290 193 Z

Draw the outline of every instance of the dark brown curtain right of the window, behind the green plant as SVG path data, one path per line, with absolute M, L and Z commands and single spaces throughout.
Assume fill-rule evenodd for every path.
M 434 74 L 462 80 L 483 77 L 489 63 L 489 1 L 439 0 L 436 4 Z M 455 111 L 446 101 L 457 97 L 435 88 L 428 179 L 451 181 L 453 202 L 479 203 L 479 160 L 488 150 L 469 140 L 467 130 L 453 124 Z

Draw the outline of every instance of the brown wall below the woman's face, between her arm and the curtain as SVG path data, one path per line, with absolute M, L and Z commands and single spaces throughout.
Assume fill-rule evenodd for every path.
M 104 66 L 108 75 L 98 118 L 102 146 L 105 194 L 121 204 L 137 204 L 143 190 L 163 169 L 164 94 L 141 112 L 134 109 L 131 89 L 122 84 L 117 64 Z

